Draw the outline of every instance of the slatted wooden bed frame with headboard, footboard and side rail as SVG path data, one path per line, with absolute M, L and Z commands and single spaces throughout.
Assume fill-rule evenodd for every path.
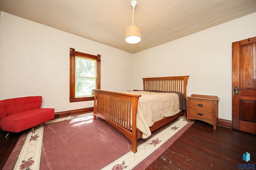
M 181 92 L 186 98 L 186 86 L 189 76 L 143 78 L 143 90 L 159 90 L 164 92 Z M 93 119 L 96 116 L 104 119 L 132 142 L 132 152 L 137 152 L 137 141 L 142 137 L 142 132 L 136 127 L 136 113 L 138 100 L 141 95 L 94 90 Z M 132 109 L 131 109 L 132 108 Z M 132 115 L 132 120 L 131 120 Z M 186 115 L 186 111 L 166 117 L 154 123 L 150 131 L 154 131 L 170 121 Z M 132 128 L 130 128 L 132 127 Z

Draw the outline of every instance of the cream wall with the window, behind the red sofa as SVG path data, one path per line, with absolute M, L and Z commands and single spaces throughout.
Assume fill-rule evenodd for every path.
M 93 107 L 69 102 L 69 48 L 101 55 L 101 89 L 132 89 L 132 54 L 1 12 L 0 100 L 42 96 L 55 112 Z

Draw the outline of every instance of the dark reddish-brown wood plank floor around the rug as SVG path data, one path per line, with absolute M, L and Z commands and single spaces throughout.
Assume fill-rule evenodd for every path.
M 0 170 L 12 152 L 20 133 L 0 129 Z M 251 160 L 242 158 L 250 153 Z M 196 121 L 146 170 L 234 170 L 238 164 L 256 163 L 256 135 Z

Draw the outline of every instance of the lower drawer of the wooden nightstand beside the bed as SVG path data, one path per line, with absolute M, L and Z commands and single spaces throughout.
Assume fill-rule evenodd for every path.
M 189 119 L 198 119 L 198 120 L 209 120 L 213 121 L 214 119 L 213 112 L 198 110 L 198 109 L 190 109 L 189 110 Z

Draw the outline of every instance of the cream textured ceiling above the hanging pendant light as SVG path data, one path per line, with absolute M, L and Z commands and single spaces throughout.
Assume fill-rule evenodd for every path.
M 0 0 L 0 10 L 129 53 L 173 41 L 256 12 L 256 0 L 137 0 L 142 40 L 124 41 L 132 0 Z

